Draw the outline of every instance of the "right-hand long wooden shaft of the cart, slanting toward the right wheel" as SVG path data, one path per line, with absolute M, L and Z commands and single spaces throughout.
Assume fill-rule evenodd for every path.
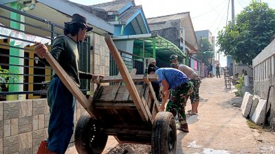
M 118 70 L 120 70 L 120 74 L 122 76 L 123 81 L 125 82 L 126 88 L 128 89 L 135 106 L 137 107 L 137 111 L 140 113 L 142 120 L 148 120 L 148 116 L 146 116 L 146 110 L 142 105 L 142 99 L 137 92 L 137 88 L 135 88 L 135 84 L 133 83 L 133 79 L 131 79 L 130 73 L 128 72 L 126 65 L 124 64 L 120 53 L 118 53 L 118 49 L 115 47 L 113 40 L 111 40 L 110 36 L 105 36 L 105 41 L 111 55 L 113 55 L 113 60 L 115 60 L 116 66 L 118 66 Z

